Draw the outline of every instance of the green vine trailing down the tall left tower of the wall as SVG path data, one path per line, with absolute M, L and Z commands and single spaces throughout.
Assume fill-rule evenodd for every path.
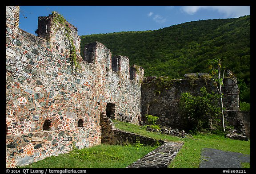
M 53 15 L 53 19 L 52 19 L 53 23 L 55 23 L 56 25 L 59 23 L 62 26 L 64 26 L 65 36 L 68 38 L 68 42 L 70 44 L 70 46 L 69 46 L 70 63 L 75 68 L 75 70 L 77 70 L 78 68 L 80 68 L 80 65 L 79 65 L 79 62 L 77 61 L 76 47 L 74 45 L 73 37 L 71 35 L 72 34 L 71 33 L 71 26 L 67 22 L 67 20 L 63 17 L 63 15 L 60 15 L 57 12 L 52 12 L 52 15 Z

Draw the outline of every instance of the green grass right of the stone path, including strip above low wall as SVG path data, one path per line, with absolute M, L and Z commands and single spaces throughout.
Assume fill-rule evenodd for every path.
M 240 141 L 225 138 L 224 135 L 215 135 L 211 133 L 200 133 L 198 135 L 180 138 L 176 136 L 163 135 L 156 132 L 148 132 L 140 126 L 127 124 L 124 122 L 116 122 L 116 128 L 138 133 L 140 135 L 149 136 L 155 139 L 165 141 L 184 142 L 184 146 L 177 154 L 176 158 L 170 164 L 169 168 L 198 168 L 200 165 L 201 150 L 203 148 L 214 148 L 222 151 L 239 152 L 244 155 L 250 154 L 250 140 Z M 244 168 L 250 168 L 249 163 L 243 163 Z

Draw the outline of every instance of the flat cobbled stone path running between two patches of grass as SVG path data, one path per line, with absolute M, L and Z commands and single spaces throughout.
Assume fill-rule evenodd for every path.
M 167 168 L 183 143 L 166 142 L 126 168 Z

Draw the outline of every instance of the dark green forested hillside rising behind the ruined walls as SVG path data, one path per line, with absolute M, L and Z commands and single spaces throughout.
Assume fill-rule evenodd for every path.
M 240 100 L 250 102 L 250 15 L 182 23 L 154 31 L 124 31 L 82 35 L 84 45 L 98 41 L 112 55 L 124 55 L 144 76 L 183 78 L 209 72 L 208 61 L 220 58 L 238 78 Z

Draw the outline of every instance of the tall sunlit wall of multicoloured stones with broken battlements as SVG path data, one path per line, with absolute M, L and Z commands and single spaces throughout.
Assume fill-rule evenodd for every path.
M 8 168 L 100 144 L 101 112 L 139 124 L 144 70 L 129 69 L 128 58 L 112 58 L 98 42 L 88 44 L 82 58 L 77 29 L 69 27 L 78 71 L 70 63 L 64 26 L 53 23 L 52 15 L 39 17 L 37 37 L 19 29 L 19 6 L 6 6 Z

